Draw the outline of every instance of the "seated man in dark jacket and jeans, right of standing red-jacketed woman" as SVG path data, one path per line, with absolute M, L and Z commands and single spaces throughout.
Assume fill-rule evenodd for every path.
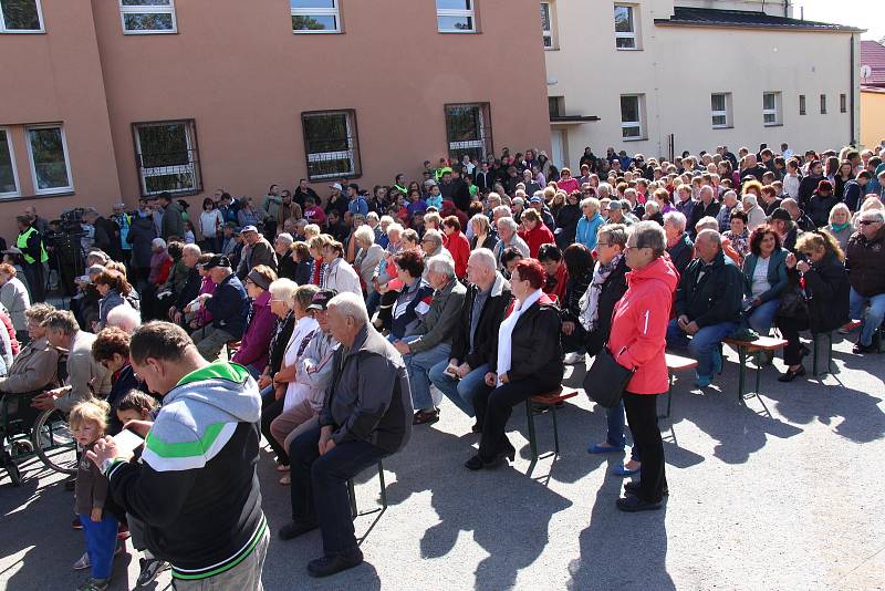
M 719 343 L 740 325 L 743 274 L 722 252 L 716 230 L 698 232 L 695 252 L 697 258 L 676 289 L 676 318 L 667 326 L 667 345 L 688 346 L 698 362 L 695 385 L 707 387 L 714 372 L 722 371 Z

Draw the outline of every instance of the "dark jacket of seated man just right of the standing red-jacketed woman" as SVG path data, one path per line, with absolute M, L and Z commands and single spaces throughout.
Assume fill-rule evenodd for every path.
M 742 299 L 743 273 L 720 250 L 709 265 L 699 258 L 688 263 L 676 288 L 676 315 L 687 315 L 701 329 L 739 322 Z

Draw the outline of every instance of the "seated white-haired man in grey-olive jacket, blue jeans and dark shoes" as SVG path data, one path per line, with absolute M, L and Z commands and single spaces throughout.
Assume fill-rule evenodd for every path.
M 430 309 L 418 320 L 413 333 L 394 346 L 404 355 L 412 386 L 412 404 L 417 409 L 413 424 L 439 421 L 439 400 L 430 393 L 428 372 L 449 359 L 451 336 L 458 323 L 467 289 L 455 276 L 455 266 L 446 257 L 431 257 L 427 261 L 427 281 L 434 289 Z M 439 396 L 441 398 L 441 396 Z

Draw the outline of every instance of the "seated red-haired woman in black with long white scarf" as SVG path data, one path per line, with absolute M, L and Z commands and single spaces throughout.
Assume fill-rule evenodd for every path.
M 521 260 L 513 269 L 510 289 L 516 305 L 498 329 L 497 359 L 486 374 L 489 390 L 473 400 L 482 438 L 479 453 L 465 464 L 471 470 L 504 458 L 512 462 L 516 448 L 504 428 L 513 406 L 560 387 L 560 313 L 541 290 L 544 280 L 544 268 L 534 259 Z

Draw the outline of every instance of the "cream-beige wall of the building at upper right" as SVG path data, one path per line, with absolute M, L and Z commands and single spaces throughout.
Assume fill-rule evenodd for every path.
M 687 3 L 729 8 L 726 2 L 679 2 Z M 753 2 L 733 3 L 760 10 Z M 735 151 L 760 143 L 779 147 L 782 142 L 793 148 L 839 148 L 857 137 L 851 118 L 852 44 L 855 63 L 858 50 L 851 33 L 663 27 L 654 20 L 673 15 L 673 0 L 645 0 L 632 3 L 638 10 L 639 49 L 618 50 L 614 4 L 553 2 L 558 49 L 545 52 L 548 94 L 563 97 L 566 115 L 600 117 L 554 125 L 554 131 L 565 131 L 570 164 L 576 165 L 585 146 L 600 156 L 610 146 L 631 155 L 668 156 L 670 136 L 676 154 L 722 144 Z M 781 93 L 780 125 L 763 124 L 764 92 Z M 728 128 L 712 127 L 711 93 L 731 93 Z M 622 138 L 622 94 L 644 97 L 644 135 L 638 141 Z M 799 114 L 800 94 L 805 95 L 805 115 Z M 820 112 L 821 94 L 826 94 L 826 114 Z M 844 113 L 841 94 L 846 95 Z M 857 112 L 856 97 L 854 104 Z

